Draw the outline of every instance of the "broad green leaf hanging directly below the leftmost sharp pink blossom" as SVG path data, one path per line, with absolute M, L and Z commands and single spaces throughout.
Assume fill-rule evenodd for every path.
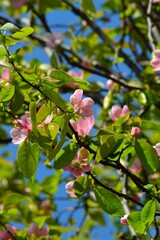
M 18 165 L 26 178 L 31 178 L 37 168 L 40 149 L 37 143 L 32 145 L 26 140 L 20 144 L 17 154 Z

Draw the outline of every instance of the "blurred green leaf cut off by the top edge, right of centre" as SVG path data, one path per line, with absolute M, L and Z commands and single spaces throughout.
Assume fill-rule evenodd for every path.
M 94 19 L 96 12 L 92 0 L 82 0 L 82 9 L 91 20 Z

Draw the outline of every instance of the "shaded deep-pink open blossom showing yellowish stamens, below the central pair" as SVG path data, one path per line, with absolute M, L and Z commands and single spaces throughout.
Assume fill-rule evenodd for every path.
M 64 170 L 70 171 L 75 177 L 82 176 L 84 172 L 88 172 L 92 168 L 92 164 L 86 163 L 88 161 L 88 151 L 81 148 L 76 154 L 72 162 L 67 165 Z

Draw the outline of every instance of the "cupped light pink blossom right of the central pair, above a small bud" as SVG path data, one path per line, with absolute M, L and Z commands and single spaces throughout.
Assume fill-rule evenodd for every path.
M 127 105 L 124 105 L 123 108 L 119 105 L 114 105 L 112 106 L 109 115 L 113 121 L 117 121 L 120 117 L 125 116 L 128 112 L 129 108 Z M 126 118 L 126 120 L 128 120 L 128 118 L 129 116 Z

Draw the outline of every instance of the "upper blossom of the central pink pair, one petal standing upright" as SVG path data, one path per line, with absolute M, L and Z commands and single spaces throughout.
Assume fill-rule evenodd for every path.
M 93 107 L 94 101 L 90 97 L 82 99 L 82 96 L 83 90 L 77 89 L 74 94 L 71 95 L 70 103 L 73 105 L 75 113 L 84 117 L 89 117 L 93 114 L 91 107 Z

